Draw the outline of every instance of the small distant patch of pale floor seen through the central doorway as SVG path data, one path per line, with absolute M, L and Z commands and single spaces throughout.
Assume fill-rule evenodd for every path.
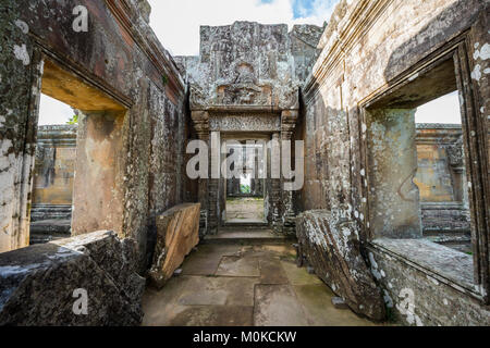
M 264 198 L 229 198 L 226 200 L 228 223 L 264 223 Z

